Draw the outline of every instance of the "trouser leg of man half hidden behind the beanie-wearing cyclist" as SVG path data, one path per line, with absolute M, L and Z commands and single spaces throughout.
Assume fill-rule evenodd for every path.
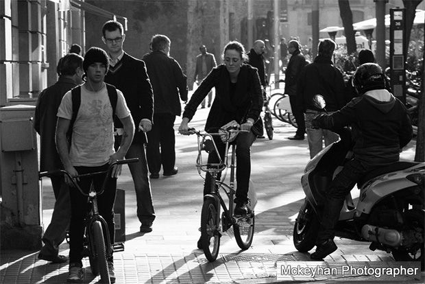
M 45 246 L 42 247 L 40 253 L 45 256 L 56 256 L 69 226 L 71 202 L 69 200 L 69 187 L 66 185 L 64 177 L 52 176 L 50 179 L 56 202 L 50 224 L 42 236 Z

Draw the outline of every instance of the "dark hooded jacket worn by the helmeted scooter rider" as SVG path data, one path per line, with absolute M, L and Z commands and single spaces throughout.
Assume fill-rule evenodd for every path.
M 367 94 L 378 94 L 386 99 Z M 336 113 L 316 120 L 321 128 L 330 130 L 351 126 L 354 158 L 372 166 L 397 162 L 400 150 L 412 138 L 406 107 L 387 90 L 369 91 L 355 97 Z

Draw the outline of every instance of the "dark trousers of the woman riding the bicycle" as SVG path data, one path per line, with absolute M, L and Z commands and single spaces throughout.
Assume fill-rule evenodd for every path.
M 250 132 L 241 132 L 236 137 L 236 140 L 233 143 L 236 143 L 236 198 L 234 198 L 235 203 L 244 203 L 247 202 L 248 189 L 250 187 L 250 176 L 251 176 L 251 145 L 254 143 L 256 135 Z M 226 150 L 226 144 L 221 142 L 218 136 L 214 137 L 215 144 L 217 145 L 217 150 L 219 150 L 221 158 L 224 156 L 224 151 Z M 229 146 L 231 147 L 231 146 Z M 229 155 L 230 155 L 229 151 Z M 219 157 L 217 153 L 211 152 L 208 155 L 208 164 L 209 163 L 219 163 Z M 230 157 L 229 157 L 230 163 Z M 217 176 L 217 179 L 219 179 Z M 210 193 L 211 190 L 211 175 L 207 172 L 205 183 L 204 183 L 204 195 Z

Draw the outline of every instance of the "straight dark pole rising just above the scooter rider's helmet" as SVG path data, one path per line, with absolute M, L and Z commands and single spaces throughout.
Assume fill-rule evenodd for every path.
M 376 10 L 376 63 L 385 69 L 385 4 L 388 0 L 374 0 Z

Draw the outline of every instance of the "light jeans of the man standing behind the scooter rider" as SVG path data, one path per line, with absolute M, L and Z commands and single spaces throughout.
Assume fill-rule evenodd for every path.
M 338 141 L 338 134 L 326 129 L 313 129 L 311 121 L 316 115 L 319 115 L 317 110 L 306 110 L 306 132 L 308 139 L 308 149 L 310 150 L 310 158 L 314 158 L 317 153 L 323 149 L 323 141 L 325 147 Z

